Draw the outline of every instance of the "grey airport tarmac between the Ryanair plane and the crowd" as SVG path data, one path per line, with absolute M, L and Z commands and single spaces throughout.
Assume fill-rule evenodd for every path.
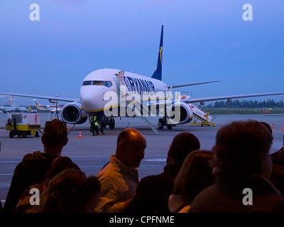
M 41 131 L 48 114 L 40 114 Z M 265 121 L 270 126 L 273 124 L 273 145 L 271 153 L 279 150 L 283 146 L 283 126 L 284 115 L 255 114 L 255 115 L 217 115 L 214 120 L 216 126 L 197 126 L 191 124 L 178 125 L 172 130 L 160 130 L 160 135 L 156 135 L 151 128 L 145 125 L 140 118 L 116 118 L 116 127 L 109 130 L 108 126 L 105 135 L 92 136 L 89 131 L 89 123 L 77 125 L 68 134 L 69 141 L 62 151 L 62 155 L 70 157 L 80 169 L 87 175 L 97 175 L 99 170 L 109 162 L 109 156 L 116 150 L 116 139 L 124 128 L 136 128 L 146 138 L 147 148 L 145 157 L 138 167 L 139 177 L 157 175 L 163 172 L 166 165 L 168 148 L 175 135 L 182 132 L 190 132 L 200 140 L 201 149 L 211 150 L 215 143 L 215 136 L 219 128 L 231 121 L 245 121 L 253 119 Z M 4 203 L 9 191 L 13 171 L 16 165 L 21 162 L 23 155 L 33 153 L 36 150 L 43 151 L 40 137 L 28 136 L 27 138 L 9 138 L 9 131 L 5 129 L 6 114 L 0 114 L 0 199 Z M 79 137 L 81 131 L 82 138 Z

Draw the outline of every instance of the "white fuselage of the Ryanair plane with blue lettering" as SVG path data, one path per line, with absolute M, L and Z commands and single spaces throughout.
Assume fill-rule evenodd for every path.
M 95 70 L 84 77 L 80 88 L 80 101 L 87 114 L 102 114 L 105 109 L 109 109 L 109 99 L 105 99 L 107 92 L 114 92 L 119 97 L 119 72 L 121 70 L 102 69 Z M 141 96 L 158 92 L 165 94 L 168 91 L 164 82 L 151 77 L 124 72 L 123 79 L 127 92 L 136 92 Z M 118 99 L 117 106 L 119 104 Z

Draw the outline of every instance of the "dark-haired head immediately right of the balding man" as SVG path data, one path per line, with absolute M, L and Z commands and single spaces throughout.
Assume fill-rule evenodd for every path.
M 193 150 L 200 149 L 200 141 L 192 133 L 180 133 L 173 138 L 168 150 L 167 164 L 182 165 L 185 157 Z

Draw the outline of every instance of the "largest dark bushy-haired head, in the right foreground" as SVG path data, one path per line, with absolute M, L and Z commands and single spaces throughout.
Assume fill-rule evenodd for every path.
M 220 129 L 216 136 L 215 166 L 226 174 L 271 175 L 269 150 L 273 137 L 258 121 L 235 121 Z

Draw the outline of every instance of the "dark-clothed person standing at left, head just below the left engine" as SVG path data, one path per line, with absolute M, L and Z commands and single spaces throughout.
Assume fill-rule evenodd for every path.
M 58 119 L 47 121 L 41 141 L 43 143 L 43 153 L 40 151 L 28 153 L 16 166 L 4 204 L 5 213 L 13 212 L 18 204 L 18 199 L 25 189 L 33 184 L 39 184 L 43 177 L 45 177 L 45 173 L 48 171 L 53 160 L 61 156 L 62 149 L 68 142 L 66 124 Z M 62 159 L 57 171 L 60 172 L 67 168 L 80 170 L 69 157 Z

